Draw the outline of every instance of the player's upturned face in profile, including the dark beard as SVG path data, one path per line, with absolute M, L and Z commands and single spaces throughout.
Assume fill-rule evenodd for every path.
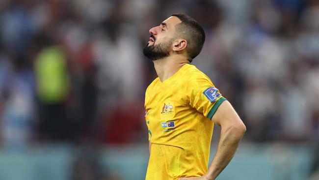
M 171 16 L 159 26 L 150 29 L 150 40 L 143 49 L 144 56 L 150 60 L 159 60 L 169 56 L 175 34 L 175 25 L 181 20 Z

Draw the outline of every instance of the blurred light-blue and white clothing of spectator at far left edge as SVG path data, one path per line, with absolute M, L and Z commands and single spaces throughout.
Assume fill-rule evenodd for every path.
M 26 71 L 10 79 L 9 95 L 0 120 L 3 145 L 9 150 L 23 150 L 32 137 L 34 90 L 29 82 L 32 78 L 30 71 Z

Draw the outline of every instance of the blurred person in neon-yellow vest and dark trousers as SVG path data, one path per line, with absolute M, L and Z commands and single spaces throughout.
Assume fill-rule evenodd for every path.
M 34 72 L 40 106 L 40 132 L 47 140 L 67 140 L 70 124 L 65 115 L 69 92 L 66 55 L 53 43 L 48 32 L 41 34 L 37 40 L 41 42 L 41 48 L 34 61 Z

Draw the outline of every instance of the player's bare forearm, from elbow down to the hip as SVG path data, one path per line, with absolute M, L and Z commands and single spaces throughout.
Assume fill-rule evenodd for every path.
M 241 126 L 230 126 L 221 129 L 220 140 L 215 157 L 206 173 L 209 180 L 215 180 L 215 178 L 225 169 L 233 158 L 245 131 L 245 127 Z

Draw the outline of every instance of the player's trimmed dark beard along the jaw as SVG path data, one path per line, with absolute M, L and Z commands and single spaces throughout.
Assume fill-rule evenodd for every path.
M 171 41 L 164 42 L 155 45 L 155 41 L 153 45 L 148 46 L 149 43 L 143 49 L 143 54 L 146 58 L 150 60 L 160 60 L 169 56 L 169 47 L 172 44 Z

